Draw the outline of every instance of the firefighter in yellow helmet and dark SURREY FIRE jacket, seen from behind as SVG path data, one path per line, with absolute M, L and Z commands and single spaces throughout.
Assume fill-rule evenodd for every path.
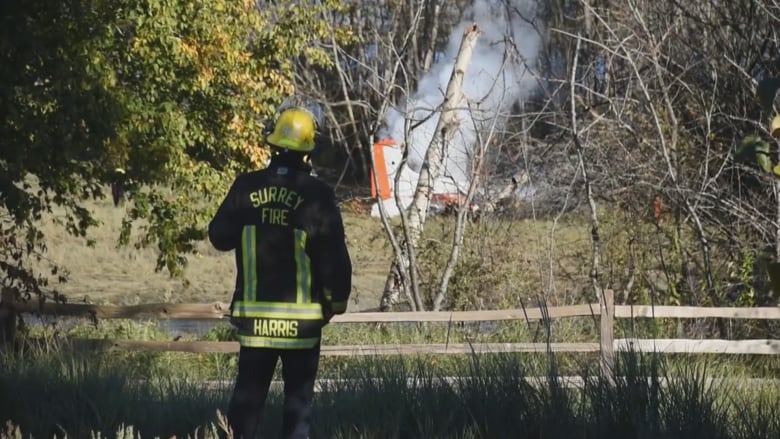
M 241 344 L 227 419 L 254 438 L 276 363 L 284 380 L 282 432 L 306 438 L 323 326 L 346 311 L 352 266 L 333 189 L 311 175 L 319 107 L 280 109 L 266 169 L 238 176 L 209 224 L 235 251 L 231 322 Z

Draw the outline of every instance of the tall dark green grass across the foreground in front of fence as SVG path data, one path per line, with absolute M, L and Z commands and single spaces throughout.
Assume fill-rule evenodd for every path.
M 172 365 L 139 379 L 112 358 L 66 347 L 2 358 L 0 422 L 34 438 L 186 437 L 196 429 L 212 437 L 232 376 L 215 386 Z M 558 376 L 555 356 L 540 358 L 470 356 L 455 360 L 455 376 L 427 358 L 359 360 L 322 382 L 312 437 L 780 437 L 780 388 L 771 382 L 713 381 L 707 366 L 629 353 L 618 357 L 614 382 L 583 366 L 572 385 Z M 547 376 L 529 375 L 540 368 Z M 280 416 L 281 396 L 272 393 L 263 437 L 278 437 Z M 123 425 L 133 426 L 129 436 Z

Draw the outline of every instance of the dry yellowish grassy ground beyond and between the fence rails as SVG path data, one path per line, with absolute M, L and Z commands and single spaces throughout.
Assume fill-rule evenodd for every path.
M 88 247 L 83 238 L 68 235 L 49 220 L 43 224 L 50 260 L 69 272 L 69 281 L 56 285 L 56 288 L 70 301 L 125 305 L 225 302 L 230 299 L 235 279 L 232 253 L 218 252 L 207 242 L 201 242 L 199 253 L 189 257 L 185 276 L 171 278 L 165 272 L 154 271 L 154 248 L 117 247 L 125 214 L 123 207 L 115 208 L 108 199 L 93 202 L 89 207 L 100 221 L 100 225 L 93 228 L 88 236 L 94 240 L 92 247 Z M 392 251 L 379 219 L 360 213 L 359 208 L 349 203 L 342 210 L 353 259 L 354 287 L 349 310 L 374 309 L 384 288 Z M 665 232 L 641 224 L 629 224 L 627 219 L 631 218 L 620 218 L 607 210 L 602 212 L 601 219 L 603 285 L 616 290 L 616 300 L 626 300 L 622 288 L 627 283 L 629 267 L 633 263 L 636 282 L 632 294 L 641 297 L 644 290 L 645 298 L 640 298 L 639 302 L 647 303 L 648 291 L 652 291 L 652 300 L 664 303 L 664 276 L 657 268 L 660 263 L 654 258 L 663 253 Z M 434 217 L 426 224 L 418 262 L 421 287 L 428 298 L 438 286 L 449 255 L 452 227 L 451 218 Z M 595 297 L 591 297 L 588 279 L 591 251 L 588 230 L 587 221 L 577 214 L 561 216 L 557 221 L 487 219 L 470 223 L 460 263 L 450 283 L 448 307 L 501 309 L 534 307 L 540 303 L 556 306 L 596 301 Z M 644 255 L 636 257 L 643 249 L 653 251 L 645 251 Z M 671 254 L 662 258 L 665 264 L 673 262 Z M 651 284 L 652 288 L 648 288 Z M 550 326 L 553 341 L 595 341 L 593 323 L 590 318 L 556 320 Z M 762 329 L 764 322 L 731 323 L 729 336 L 734 338 L 771 332 L 771 328 Z M 526 322 L 512 325 L 501 329 L 503 339 L 491 341 L 544 341 L 544 328 Z M 616 329 L 625 336 L 695 338 L 708 336 L 712 327 L 712 319 L 620 320 Z M 393 325 L 381 328 L 351 325 L 342 331 L 328 328 L 325 338 L 330 344 L 354 343 L 356 340 L 374 343 L 446 341 L 442 334 L 449 334 L 449 328 L 428 325 L 426 330 L 431 328 L 435 328 L 436 335 L 416 333 L 414 328 L 412 331 L 397 331 Z M 470 338 L 464 340 L 478 341 L 475 338 L 478 333 L 471 331 Z M 492 333 L 487 337 L 493 337 Z

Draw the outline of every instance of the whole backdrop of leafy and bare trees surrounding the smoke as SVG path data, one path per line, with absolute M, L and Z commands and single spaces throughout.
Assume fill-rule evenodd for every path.
M 522 7 L 541 41 L 529 65 L 535 85 L 492 113 L 501 123 L 480 137 L 490 142 L 473 145 L 484 152 L 483 209 L 465 226 L 474 247 L 454 267 L 458 293 L 442 305 L 511 305 L 518 290 L 557 296 L 562 256 L 589 261 L 569 270 L 580 287 L 562 300 L 612 288 L 624 302 L 776 303 L 767 267 L 780 251 L 780 186 L 735 156 L 747 135 L 780 154 L 774 112 L 756 101 L 760 81 L 780 74 L 776 1 L 299 3 L 6 2 L 0 268 L 33 288 L 23 261 L 44 248 L 36 218 L 62 206 L 64 224 L 83 234 L 82 201 L 124 167 L 135 184 L 122 238 L 158 246 L 158 266 L 176 272 L 203 236 L 209 197 L 262 162 L 262 118 L 293 90 L 326 107 L 334 147 L 316 158 L 318 171 L 367 195 L 372 140 L 437 62 L 452 61 L 447 49 L 462 36 L 453 30 L 475 5 Z M 510 48 L 528 40 L 505 37 Z M 466 104 L 477 108 L 479 96 Z M 545 252 L 518 272 L 527 282 L 510 285 L 505 273 L 519 269 L 500 261 L 511 255 L 475 243 L 517 239 L 518 227 L 531 228 L 523 218 L 544 225 L 535 238 Z M 565 221 L 591 241 L 587 251 L 560 253 Z M 431 261 L 449 242 L 426 243 L 411 268 L 424 307 L 441 290 L 431 279 L 443 265 Z M 474 299 L 501 282 L 491 294 L 503 298 Z

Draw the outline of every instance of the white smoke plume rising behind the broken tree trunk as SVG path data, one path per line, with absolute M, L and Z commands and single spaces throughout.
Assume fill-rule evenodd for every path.
M 445 151 L 445 176 L 460 190 L 467 187 L 476 129 L 503 119 L 513 104 L 527 99 L 536 89 L 534 67 L 542 45 L 540 3 L 543 0 L 475 0 L 453 28 L 444 54 L 419 80 L 417 90 L 400 110 L 386 118 L 386 136 L 408 142 L 408 167 L 419 173 L 426 149 L 439 120 L 431 113 L 442 104 L 447 83 L 467 26 L 481 31 L 466 71 L 463 92 L 471 110 L 463 105 L 458 131 Z M 420 123 L 426 117 L 425 122 Z M 405 118 L 414 128 L 404 136 Z M 475 126 L 476 123 L 476 126 Z M 500 123 L 500 120 L 499 120 Z

